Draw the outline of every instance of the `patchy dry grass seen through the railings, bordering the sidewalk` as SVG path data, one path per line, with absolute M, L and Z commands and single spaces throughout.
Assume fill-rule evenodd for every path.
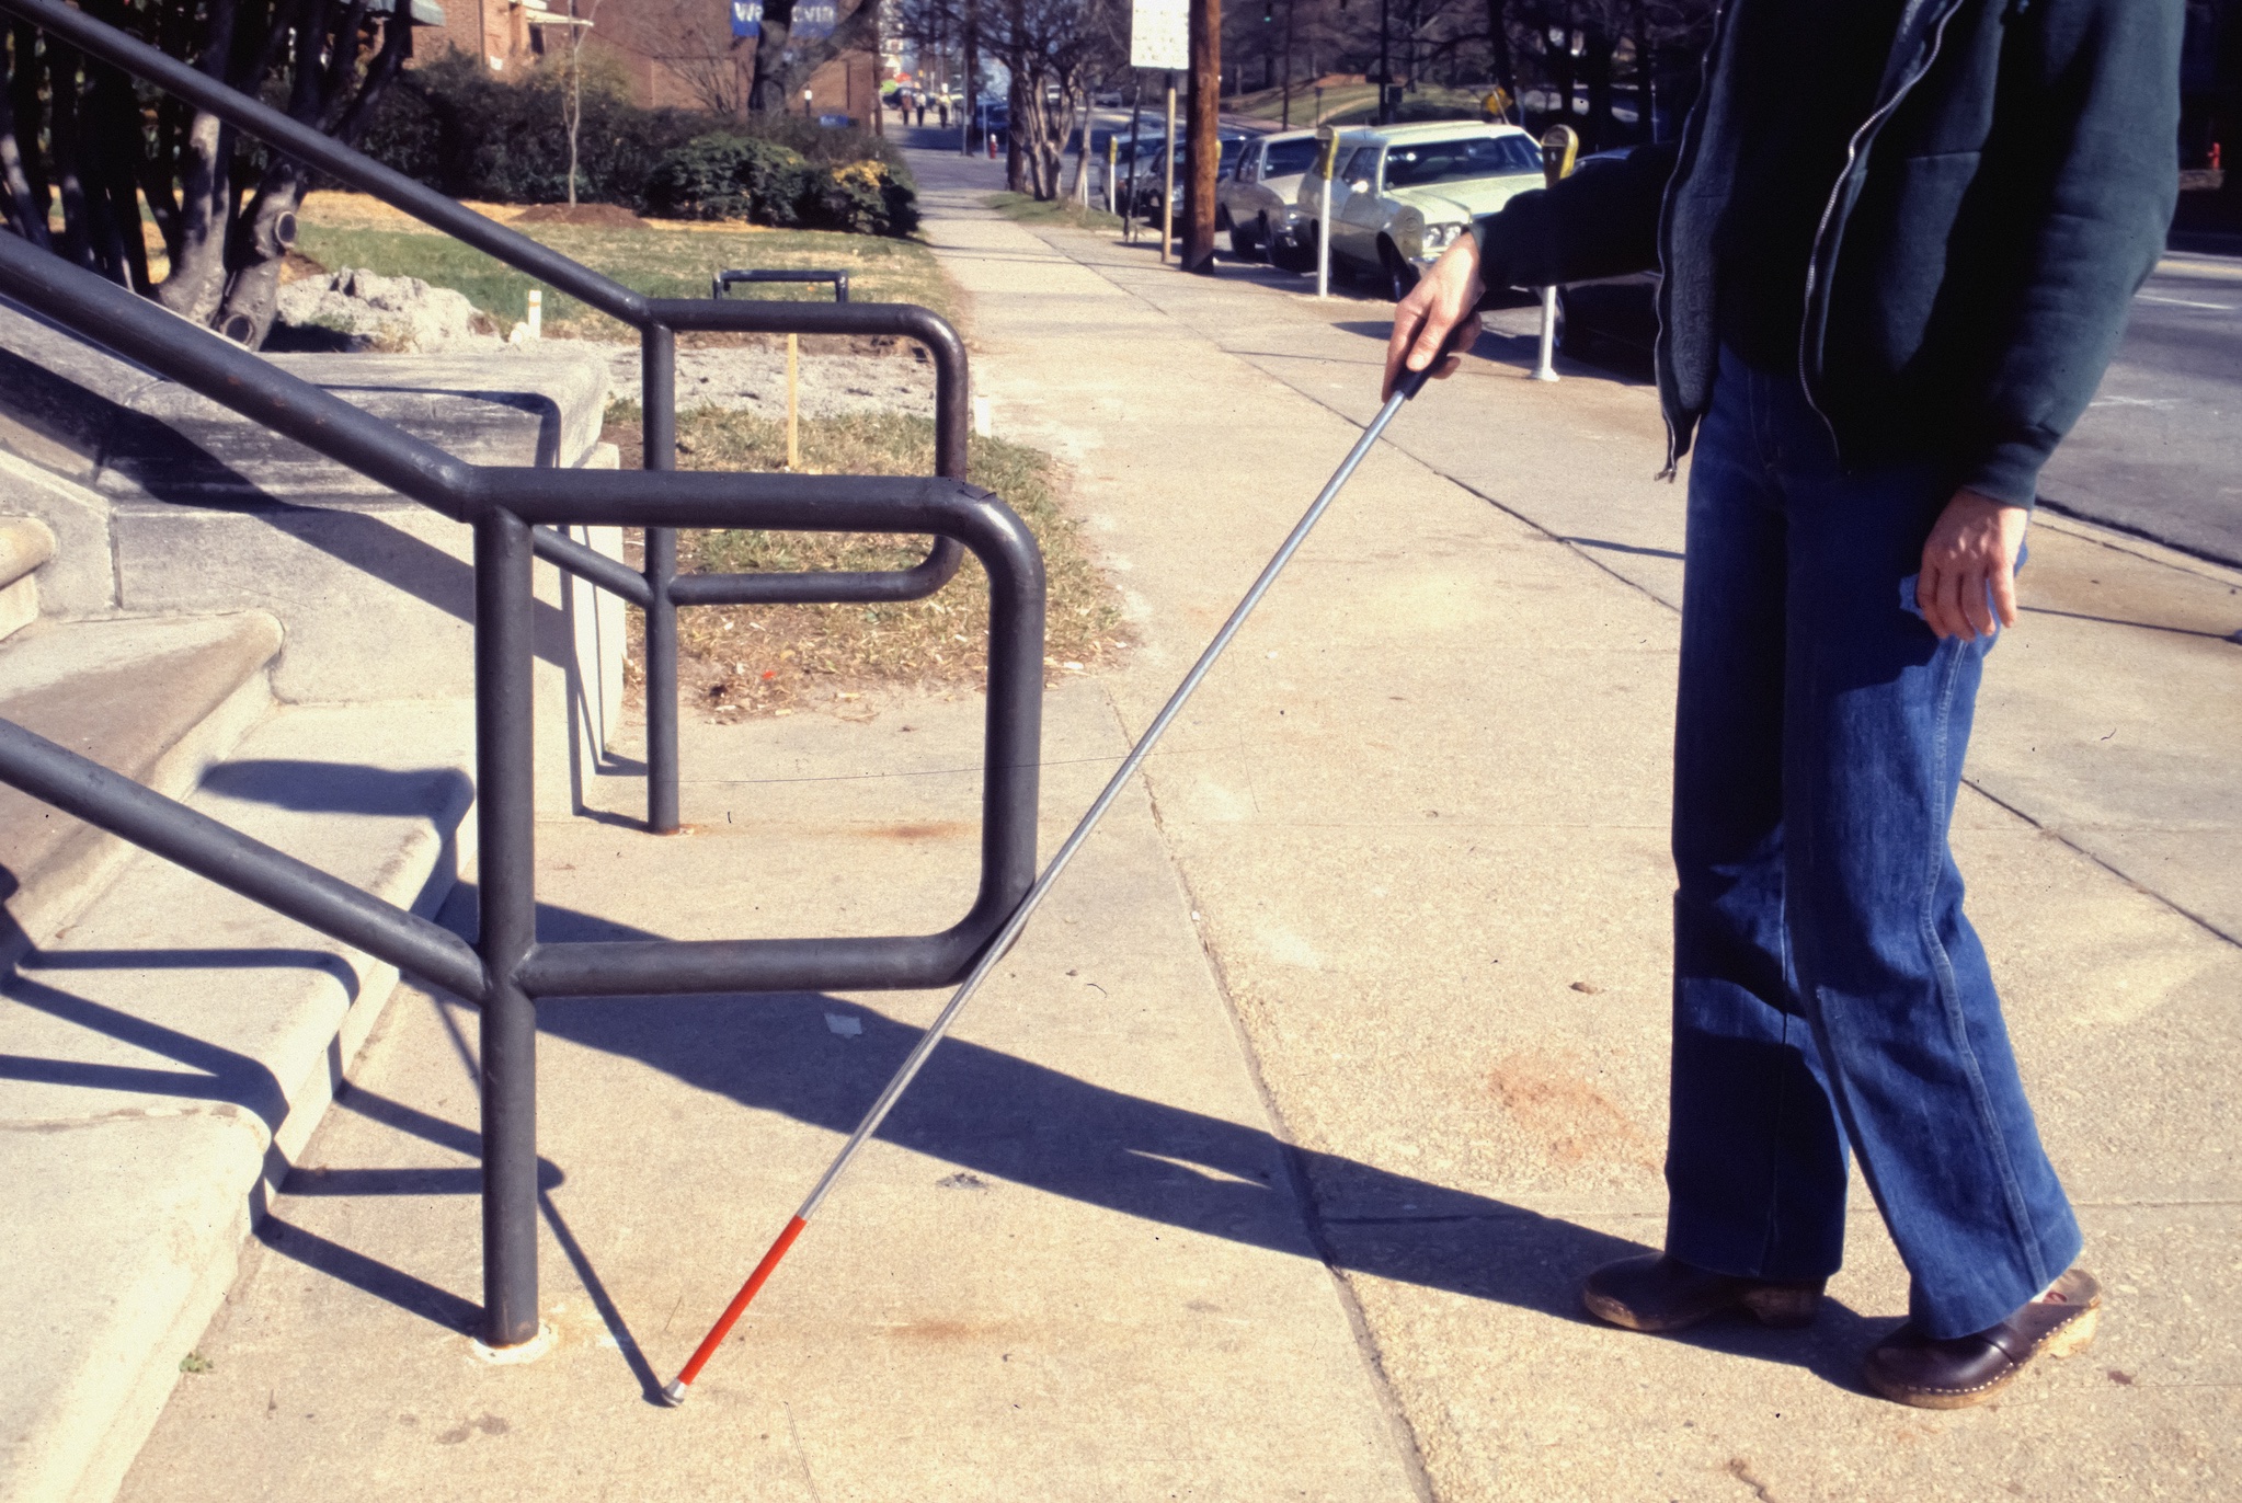
M 637 403 L 608 408 L 608 435 L 634 448 Z M 677 464 L 688 470 L 782 470 L 785 423 L 695 408 L 677 414 Z M 852 475 L 930 475 L 935 426 L 924 417 L 805 419 L 803 468 Z M 1043 547 L 1047 580 L 1045 670 L 1087 672 L 1128 645 L 1121 600 L 1090 562 L 1063 508 L 1065 470 L 1038 448 L 975 437 L 971 479 L 1020 513 Z M 677 538 L 686 573 L 762 569 L 908 569 L 926 538 L 877 533 L 693 531 Z M 643 652 L 632 620 L 632 668 Z M 850 701 L 868 688 L 975 690 L 989 665 L 989 582 L 980 560 L 926 600 L 897 605 L 693 607 L 677 616 L 679 692 L 720 719 L 789 715 L 805 703 Z

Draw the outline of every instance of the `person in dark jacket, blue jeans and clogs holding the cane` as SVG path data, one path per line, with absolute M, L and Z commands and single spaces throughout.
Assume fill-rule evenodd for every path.
M 2184 9 L 1731 0 L 1679 141 L 1513 197 L 1397 309 L 1388 388 L 1489 287 L 1661 271 L 1668 1212 L 1583 1286 L 1616 1326 L 1812 1322 L 1850 1147 L 1912 1281 L 1870 1387 L 1957 1409 L 2094 1333 L 1946 835 L 2040 466 L 2172 220 Z

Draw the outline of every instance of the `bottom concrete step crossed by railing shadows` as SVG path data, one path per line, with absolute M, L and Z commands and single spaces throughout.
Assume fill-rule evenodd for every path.
M 473 706 L 280 708 L 197 809 L 433 914 Z M 137 853 L 0 995 L 0 1503 L 105 1501 L 397 972 Z

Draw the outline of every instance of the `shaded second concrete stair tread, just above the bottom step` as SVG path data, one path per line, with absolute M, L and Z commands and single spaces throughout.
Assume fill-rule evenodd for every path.
M 267 670 L 278 652 L 280 623 L 265 612 L 40 620 L 0 643 L 0 719 L 177 797 L 271 706 Z M 0 786 L 11 921 L 0 963 L 52 939 L 130 853 Z

